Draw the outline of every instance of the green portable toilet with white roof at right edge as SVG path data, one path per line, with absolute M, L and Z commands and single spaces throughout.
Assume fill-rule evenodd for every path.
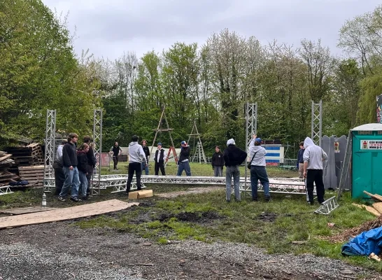
M 382 124 L 369 123 L 352 130 L 353 198 L 369 198 L 363 193 L 382 195 Z

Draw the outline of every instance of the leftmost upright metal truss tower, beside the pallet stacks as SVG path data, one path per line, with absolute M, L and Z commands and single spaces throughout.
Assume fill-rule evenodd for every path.
M 50 188 L 55 187 L 52 178 L 55 178 L 55 136 L 56 136 L 56 110 L 46 111 L 45 127 L 45 157 L 44 157 L 44 192 L 50 192 Z

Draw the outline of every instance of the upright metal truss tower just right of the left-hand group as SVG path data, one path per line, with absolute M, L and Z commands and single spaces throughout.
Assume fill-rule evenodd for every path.
M 101 194 L 101 153 L 102 153 L 102 109 L 94 109 L 93 113 L 93 143 L 94 157 L 97 159 L 95 174 L 90 183 L 91 195 Z M 94 188 L 94 182 L 97 188 Z

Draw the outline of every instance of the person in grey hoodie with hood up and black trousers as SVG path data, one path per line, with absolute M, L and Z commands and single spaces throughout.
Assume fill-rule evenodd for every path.
M 308 191 L 309 204 L 313 205 L 313 183 L 316 183 L 318 203 L 323 203 L 325 188 L 323 182 L 323 161 L 327 160 L 327 154 L 320 146 L 306 137 L 304 140 L 304 178 L 306 178 L 306 190 Z

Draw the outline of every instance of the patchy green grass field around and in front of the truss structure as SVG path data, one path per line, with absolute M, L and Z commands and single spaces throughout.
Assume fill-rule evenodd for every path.
M 120 164 L 120 173 L 125 169 Z M 150 169 L 150 174 L 152 174 Z M 193 175 L 211 176 L 211 165 L 192 164 Z M 106 170 L 105 170 L 106 171 Z M 267 169 L 270 177 L 295 177 L 297 172 Z M 169 165 L 167 173 L 174 175 L 176 167 Z M 113 174 L 114 172 L 111 172 Z M 241 170 L 241 174 L 244 172 Z M 192 188 L 197 186 L 192 186 Z M 208 188 L 208 186 L 199 186 Z M 150 186 L 154 193 L 187 190 L 190 186 Z M 127 195 L 111 194 L 103 190 L 94 196 L 91 203 L 117 198 L 127 201 Z M 42 190 L 16 192 L 0 196 L 0 207 L 27 207 L 41 204 Z M 115 214 L 87 218 L 74 226 L 81 228 L 107 227 L 121 232 L 131 232 L 146 237 L 159 244 L 168 240 L 197 239 L 213 242 L 217 240 L 243 242 L 264 248 L 269 253 L 313 253 L 329 258 L 339 258 L 355 265 L 382 271 L 380 263 L 366 257 L 344 258 L 341 256 L 343 243 L 331 243 L 324 237 L 337 235 L 348 228 L 374 219 L 369 212 L 354 207 L 349 193 L 344 193 L 340 207 L 329 215 L 313 212 L 318 204 L 306 204 L 304 195 L 271 194 L 270 203 L 263 200 L 251 202 L 243 195 L 242 202 L 225 202 L 225 189 L 202 195 L 183 195 L 173 199 L 154 196 L 139 200 L 141 207 L 132 207 Z M 327 191 L 326 198 L 335 195 Z M 48 206 L 69 207 L 73 202 L 57 202 L 52 194 L 48 195 Z M 334 227 L 328 226 L 334 223 Z M 298 241 L 298 242 L 295 242 Z

